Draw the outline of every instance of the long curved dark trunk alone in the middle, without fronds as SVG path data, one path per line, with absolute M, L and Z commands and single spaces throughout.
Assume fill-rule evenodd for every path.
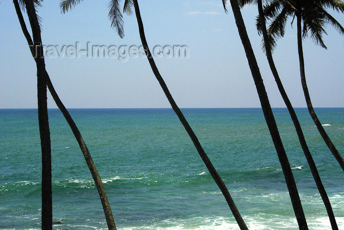
M 180 111 L 180 109 L 178 108 L 177 104 L 174 102 L 172 95 L 164 81 L 164 79 L 161 77 L 159 70 L 157 68 L 157 66 L 155 65 L 154 59 L 152 57 L 151 52 L 149 51 L 148 48 L 148 44 L 147 41 L 145 39 L 145 35 L 144 35 L 144 29 L 143 29 L 143 22 L 141 19 L 141 14 L 140 14 L 140 8 L 139 8 L 139 4 L 137 0 L 134 0 L 134 7 L 135 7 L 135 14 L 136 14 L 136 18 L 138 21 L 138 25 L 139 25 L 139 31 L 140 31 L 140 38 L 142 41 L 142 45 L 144 47 L 144 51 L 145 54 L 148 58 L 150 67 L 155 75 L 155 77 L 157 78 L 157 80 L 159 81 L 159 84 L 161 86 L 161 88 L 163 89 L 167 99 L 169 100 L 174 112 L 176 113 L 176 115 L 178 116 L 180 122 L 182 123 L 182 125 L 184 126 L 185 130 L 187 131 L 187 133 L 189 134 L 192 142 L 194 143 L 198 153 L 200 154 L 205 166 L 207 167 L 207 169 L 209 170 L 209 173 L 211 174 L 211 176 L 213 177 L 213 179 L 215 180 L 216 184 L 219 186 L 222 194 L 224 195 L 224 197 L 226 198 L 226 201 L 229 205 L 230 210 L 232 211 L 234 218 L 236 220 L 236 222 L 238 223 L 239 227 L 241 230 L 248 230 L 244 220 L 242 219 L 239 210 L 237 209 L 236 205 L 234 204 L 233 199 L 231 198 L 229 191 L 225 185 L 225 183 L 223 182 L 223 180 L 221 179 L 221 177 L 219 176 L 219 174 L 217 173 L 216 169 L 214 168 L 214 166 L 212 165 L 210 159 L 208 158 L 208 156 L 206 155 L 206 153 L 204 152 L 201 143 L 199 142 L 196 134 L 194 133 L 194 131 L 192 130 L 192 128 L 190 127 L 190 125 L 188 124 L 188 122 L 186 121 L 183 113 Z

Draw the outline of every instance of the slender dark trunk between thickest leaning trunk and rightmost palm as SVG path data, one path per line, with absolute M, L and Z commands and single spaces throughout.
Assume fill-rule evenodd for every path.
M 297 133 L 297 136 L 299 138 L 299 142 L 301 144 L 302 150 L 305 153 L 307 162 L 308 162 L 308 164 L 310 166 L 313 178 L 315 180 L 315 184 L 316 184 L 316 186 L 318 188 L 318 191 L 320 193 L 322 201 L 325 204 L 325 207 L 326 207 L 329 219 L 330 219 L 330 223 L 331 223 L 332 229 L 333 230 L 338 230 L 338 226 L 337 226 L 337 223 L 336 223 L 335 216 L 333 214 L 333 210 L 332 210 L 332 207 L 331 207 L 330 200 L 328 199 L 326 190 L 325 190 L 325 188 L 324 188 L 324 186 L 323 186 L 323 184 L 321 182 L 321 179 L 320 179 L 320 176 L 318 174 L 318 171 L 317 171 L 315 162 L 313 160 L 312 154 L 309 151 L 309 148 L 307 146 L 305 137 L 304 137 L 303 132 L 302 132 L 301 125 L 299 123 L 299 120 L 297 119 L 297 116 L 296 116 L 296 113 L 294 111 L 294 108 L 292 107 L 291 102 L 289 101 L 287 93 L 286 93 L 286 91 L 285 91 L 285 89 L 283 87 L 282 81 L 281 81 L 281 79 L 280 79 L 280 77 L 278 75 L 278 72 L 277 72 L 274 60 L 272 58 L 271 49 L 270 49 L 269 46 L 266 45 L 266 44 L 269 44 L 269 41 L 268 41 L 269 39 L 268 39 L 267 30 L 266 30 L 266 24 L 265 24 L 264 12 L 263 12 L 262 0 L 258 0 L 258 12 L 259 12 L 259 20 L 260 20 L 260 24 L 261 24 L 261 28 L 262 28 L 264 44 L 265 44 L 266 57 L 267 57 L 267 60 L 269 62 L 269 65 L 270 65 L 271 72 L 272 72 L 272 74 L 273 74 L 273 76 L 275 78 L 275 81 L 276 81 L 278 89 L 279 89 L 279 91 L 280 91 L 280 93 L 282 95 L 282 98 L 283 98 L 285 104 L 287 105 L 287 109 L 289 111 L 291 120 L 292 120 L 292 122 L 294 124 L 294 127 L 296 129 L 296 133 Z

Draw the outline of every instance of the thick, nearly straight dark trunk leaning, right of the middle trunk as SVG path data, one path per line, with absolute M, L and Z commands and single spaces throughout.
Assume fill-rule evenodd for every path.
M 266 120 L 266 124 L 269 128 L 272 140 L 274 142 L 278 158 L 280 160 L 283 173 L 286 179 L 288 191 L 289 191 L 289 196 L 291 199 L 291 203 L 295 212 L 295 216 L 297 219 L 297 223 L 299 225 L 300 230 L 308 230 L 305 214 L 303 212 L 302 204 L 300 201 L 300 197 L 297 191 L 296 183 L 293 177 L 293 174 L 291 172 L 290 164 L 287 158 L 286 151 L 283 147 L 283 143 L 276 125 L 276 121 L 274 118 L 274 115 L 272 113 L 272 109 L 270 106 L 270 102 L 268 99 L 268 96 L 266 94 L 266 90 L 263 84 L 263 80 L 261 78 L 257 60 L 255 57 L 255 54 L 252 50 L 252 46 L 249 40 L 249 37 L 247 35 L 247 31 L 245 28 L 244 20 L 242 19 L 242 15 L 240 12 L 240 8 L 238 5 L 237 0 L 230 0 L 231 8 L 234 14 L 235 18 L 235 23 L 236 26 L 238 27 L 238 32 L 240 35 L 241 42 L 244 46 L 245 53 L 247 56 L 247 60 L 249 62 L 249 66 L 251 69 L 252 77 L 254 78 L 260 104 L 264 113 L 264 117 Z

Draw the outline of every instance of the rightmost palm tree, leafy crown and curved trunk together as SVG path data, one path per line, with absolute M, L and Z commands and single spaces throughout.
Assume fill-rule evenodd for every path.
M 322 40 L 322 34 L 326 33 L 324 29 L 326 24 L 334 26 L 341 34 L 344 34 L 343 26 L 341 26 L 325 8 L 332 8 L 337 12 L 344 13 L 344 2 L 341 0 L 274 0 L 265 6 L 264 15 L 272 20 L 268 28 L 269 46 L 271 48 L 276 46 L 276 39 L 284 36 L 287 19 L 293 17 L 294 20 L 296 17 L 300 76 L 307 108 L 321 137 L 344 171 L 343 156 L 334 146 L 315 114 L 306 82 L 305 62 L 303 57 L 302 39 L 307 37 L 309 32 L 315 44 L 325 49 L 326 46 Z

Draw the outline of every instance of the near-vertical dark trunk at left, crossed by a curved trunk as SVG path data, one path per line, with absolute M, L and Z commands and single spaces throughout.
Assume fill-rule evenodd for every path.
M 47 104 L 47 79 L 44 73 L 44 59 L 41 58 L 43 46 L 36 11 L 32 0 L 26 0 L 25 3 L 32 28 L 33 41 L 36 42 L 32 47 L 32 51 L 37 67 L 38 124 L 42 150 L 42 230 L 52 230 L 52 165 Z

